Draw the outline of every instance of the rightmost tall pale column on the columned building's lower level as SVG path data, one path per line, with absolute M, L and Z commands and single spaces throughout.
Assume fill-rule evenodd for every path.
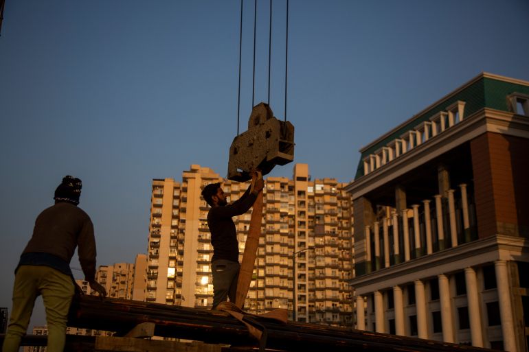
M 510 283 L 507 262 L 494 262 L 498 290 L 499 318 L 502 320 L 505 351 L 517 352 L 513 309 L 510 305 Z M 527 274 L 527 273 L 526 273 Z

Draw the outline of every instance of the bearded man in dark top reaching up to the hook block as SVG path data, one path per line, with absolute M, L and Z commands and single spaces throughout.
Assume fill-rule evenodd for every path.
M 246 213 L 263 188 L 264 181 L 260 172 L 252 172 L 248 189 L 232 204 L 227 204 L 220 183 L 212 183 L 202 190 L 204 200 L 211 207 L 207 213 L 207 226 L 210 228 L 213 245 L 213 309 L 219 303 L 227 301 L 227 298 L 235 303 L 240 264 L 237 232 L 232 217 Z

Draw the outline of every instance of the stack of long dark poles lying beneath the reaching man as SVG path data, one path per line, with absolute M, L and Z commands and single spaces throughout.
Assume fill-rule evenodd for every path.
M 154 322 L 155 336 L 198 340 L 210 344 L 256 346 L 258 342 L 248 335 L 242 322 L 225 312 L 197 309 L 159 303 L 126 301 L 82 296 L 72 304 L 69 326 L 89 329 L 126 331 L 140 322 Z M 362 351 L 417 351 L 417 352 L 477 352 L 491 351 L 480 347 L 423 340 L 407 336 L 394 336 L 355 329 L 326 327 L 324 325 L 288 322 L 253 317 L 267 329 L 267 349 L 282 351 L 350 352 Z

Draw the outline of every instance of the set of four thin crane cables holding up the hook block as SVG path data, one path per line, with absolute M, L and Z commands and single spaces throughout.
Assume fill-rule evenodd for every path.
M 270 0 L 270 18 L 269 18 L 269 42 L 268 42 L 268 99 L 270 104 L 270 75 L 271 75 L 271 53 L 272 53 L 272 1 Z M 257 0 L 254 0 L 254 62 L 251 91 L 251 106 L 255 104 L 256 91 L 256 27 L 257 27 Z M 239 135 L 240 125 L 240 76 L 243 53 L 243 0 L 240 0 L 240 32 L 239 32 L 239 77 L 237 93 L 237 135 Z M 285 40 L 285 64 L 284 64 L 284 121 L 286 122 L 286 92 L 288 84 L 288 59 L 289 59 L 289 0 L 286 0 L 286 40 Z

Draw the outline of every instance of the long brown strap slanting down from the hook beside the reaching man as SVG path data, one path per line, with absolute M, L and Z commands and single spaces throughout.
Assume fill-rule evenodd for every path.
M 237 281 L 237 294 L 235 305 L 240 309 L 245 305 L 245 299 L 250 288 L 251 276 L 256 264 L 257 248 L 261 236 L 262 218 L 262 190 L 259 192 L 254 207 L 251 210 L 250 227 L 246 237 L 245 253 L 243 262 L 240 264 L 239 278 Z

